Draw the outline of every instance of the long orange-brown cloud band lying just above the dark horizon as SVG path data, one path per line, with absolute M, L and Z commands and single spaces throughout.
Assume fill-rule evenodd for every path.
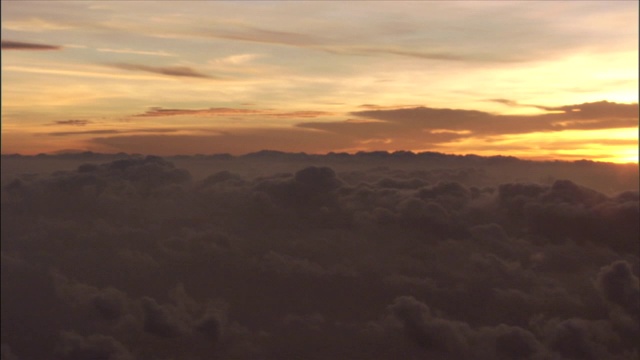
M 477 110 L 401 107 L 356 111 L 339 121 L 335 119 L 340 113 L 318 110 L 154 107 L 131 119 L 162 121 L 180 116 L 185 130 L 186 124 L 195 124 L 194 119 L 199 119 L 194 129 L 202 131 L 114 134 L 89 139 L 88 146 L 109 152 L 162 155 L 239 155 L 262 149 L 308 153 L 408 149 L 571 160 L 623 161 L 618 158 L 626 156 L 626 161 L 633 160 L 633 148 L 637 147 L 633 130 L 638 123 L 636 104 L 602 101 L 538 107 L 546 113 L 497 115 Z M 278 123 L 280 119 L 293 122 L 293 126 Z M 251 125 L 258 120 L 273 125 Z

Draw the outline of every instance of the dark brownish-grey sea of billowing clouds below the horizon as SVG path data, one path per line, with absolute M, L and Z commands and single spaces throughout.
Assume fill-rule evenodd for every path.
M 637 167 L 172 160 L 3 157 L 3 359 L 637 357 Z

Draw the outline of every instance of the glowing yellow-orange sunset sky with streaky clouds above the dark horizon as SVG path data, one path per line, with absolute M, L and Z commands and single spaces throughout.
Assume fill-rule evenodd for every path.
M 638 162 L 636 1 L 2 1 L 2 153 Z

